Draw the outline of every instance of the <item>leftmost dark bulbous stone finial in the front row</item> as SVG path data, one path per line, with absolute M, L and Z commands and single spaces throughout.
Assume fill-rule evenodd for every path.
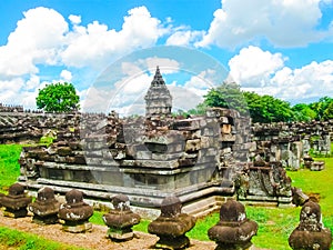
M 27 207 L 31 202 L 31 197 L 27 197 L 24 187 L 14 183 L 9 187 L 8 196 L 0 198 L 0 203 L 6 208 L 3 216 L 21 218 L 28 214 Z

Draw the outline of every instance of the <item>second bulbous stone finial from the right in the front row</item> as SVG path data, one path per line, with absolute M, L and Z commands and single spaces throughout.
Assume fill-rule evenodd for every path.
M 245 207 L 234 200 L 222 204 L 220 222 L 209 231 L 209 238 L 218 243 L 216 250 L 243 250 L 249 249 L 251 239 L 256 234 L 258 224 L 249 220 Z

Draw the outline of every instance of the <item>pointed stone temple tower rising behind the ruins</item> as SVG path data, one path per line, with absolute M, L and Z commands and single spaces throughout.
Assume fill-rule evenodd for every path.
M 172 97 L 162 78 L 159 67 L 157 67 L 154 79 L 144 97 L 145 116 L 169 116 L 172 109 Z

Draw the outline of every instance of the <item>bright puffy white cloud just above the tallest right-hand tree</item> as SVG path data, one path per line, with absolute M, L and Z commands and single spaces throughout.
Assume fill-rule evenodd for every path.
M 263 51 L 259 47 L 243 48 L 229 61 L 229 81 L 242 83 L 243 87 L 263 87 L 271 74 L 284 66 L 281 53 Z

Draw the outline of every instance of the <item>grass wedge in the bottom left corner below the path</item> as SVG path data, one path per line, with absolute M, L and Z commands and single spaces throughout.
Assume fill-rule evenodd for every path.
M 72 246 L 47 240 L 32 233 L 0 227 L 0 247 L 19 250 L 83 250 Z

